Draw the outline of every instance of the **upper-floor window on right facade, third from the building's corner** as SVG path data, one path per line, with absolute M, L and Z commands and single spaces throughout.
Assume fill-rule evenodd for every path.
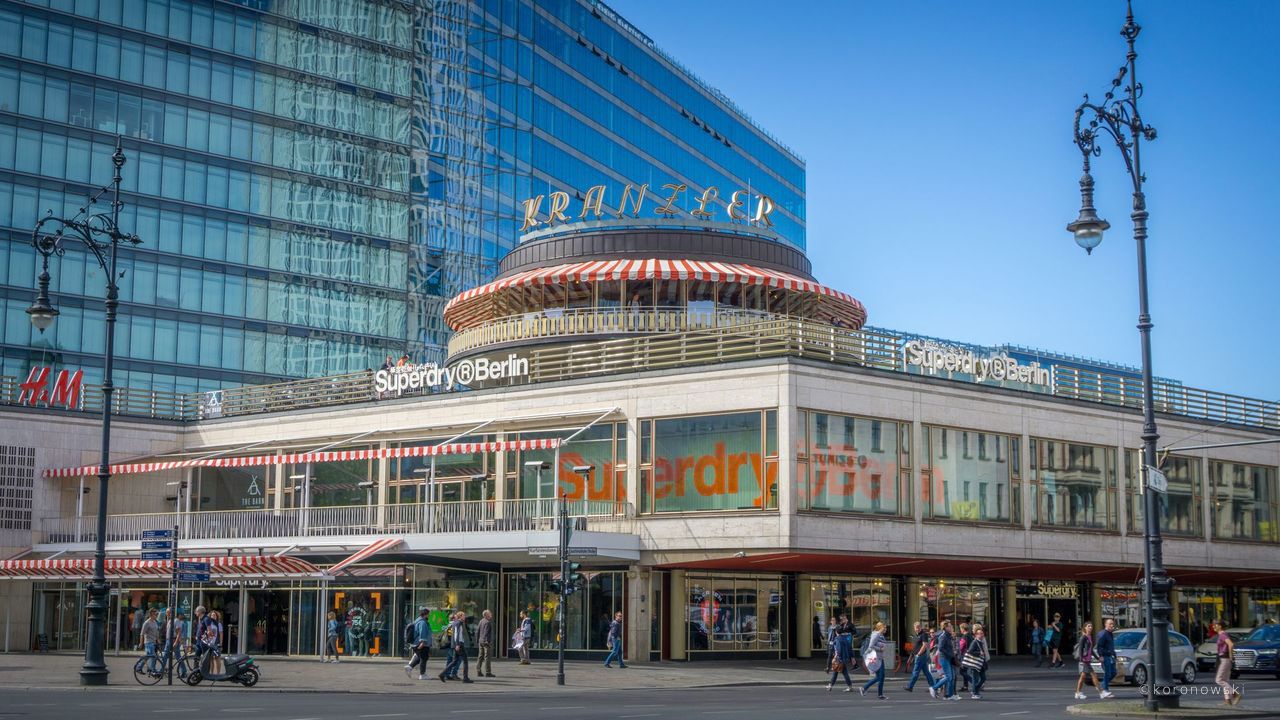
M 1110 447 L 1032 438 L 1032 521 L 1116 528 L 1116 454 Z

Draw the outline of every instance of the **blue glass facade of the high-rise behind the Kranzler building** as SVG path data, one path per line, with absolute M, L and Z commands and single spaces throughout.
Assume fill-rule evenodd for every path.
M 125 387 L 440 361 L 547 188 L 751 188 L 804 247 L 803 161 L 586 0 L 0 0 L 0 374 L 102 379 L 102 273 L 69 246 L 38 334 L 28 243 L 118 136 Z

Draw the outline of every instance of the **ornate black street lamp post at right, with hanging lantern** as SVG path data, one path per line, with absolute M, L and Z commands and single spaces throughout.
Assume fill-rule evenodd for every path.
M 1089 96 L 1075 109 L 1075 145 L 1084 156 L 1084 174 L 1080 177 L 1080 215 L 1066 229 L 1075 236 L 1075 242 L 1092 254 L 1102 242 L 1102 233 L 1111 227 L 1098 217 L 1093 208 L 1093 177 L 1089 174 L 1089 159 L 1102 154 L 1098 138 L 1106 133 L 1115 141 L 1124 159 L 1129 179 L 1133 181 L 1133 238 L 1138 246 L 1138 333 L 1142 337 L 1142 465 L 1143 477 L 1149 478 L 1156 469 L 1156 411 L 1152 395 L 1151 372 L 1151 310 L 1147 302 L 1147 197 L 1142 186 L 1147 181 L 1142 173 L 1143 140 L 1156 140 L 1156 128 L 1144 124 L 1138 111 L 1138 99 L 1142 97 L 1142 85 L 1138 82 L 1138 53 L 1133 44 L 1142 32 L 1142 26 L 1133 20 L 1133 5 L 1128 6 L 1125 24 L 1120 35 L 1129 44 L 1125 64 L 1111 81 L 1102 102 L 1091 102 Z M 1128 79 L 1128 86 L 1120 90 Z M 1116 97 L 1116 92 L 1120 96 Z M 1087 124 L 1082 120 L 1088 118 Z M 1169 594 L 1174 580 L 1165 571 L 1164 539 L 1160 534 L 1160 497 L 1149 482 L 1143 483 L 1143 585 L 1147 603 L 1147 646 L 1151 648 L 1153 671 L 1148 674 L 1144 705 L 1151 711 L 1178 707 L 1178 696 L 1171 692 L 1172 676 L 1169 662 L 1169 616 L 1172 606 Z

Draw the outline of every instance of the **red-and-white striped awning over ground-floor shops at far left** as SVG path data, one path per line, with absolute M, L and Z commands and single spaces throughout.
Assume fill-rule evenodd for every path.
M 179 557 L 178 560 L 182 562 L 209 562 L 209 574 L 215 578 L 301 579 L 324 575 L 324 571 L 319 566 L 297 557 L 239 555 L 230 557 Z M 104 570 L 109 579 L 137 578 L 168 580 L 173 577 L 173 561 L 108 557 L 104 562 Z M 0 560 L 0 579 L 52 578 L 81 580 L 92 577 L 92 557 Z

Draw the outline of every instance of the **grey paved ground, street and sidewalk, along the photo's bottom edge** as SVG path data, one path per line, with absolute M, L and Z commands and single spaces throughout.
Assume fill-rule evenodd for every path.
M 114 659 L 113 659 L 114 660 Z M 119 659 L 118 661 L 127 661 Z M 1065 670 L 1034 670 L 1011 661 L 993 667 L 983 700 L 932 701 L 923 688 L 906 693 L 904 678 L 886 683 L 888 701 L 863 698 L 841 688 L 827 693 L 809 662 L 696 662 L 634 665 L 605 671 L 596 664 L 570 664 L 568 684 L 554 684 L 554 664 L 521 667 L 502 662 L 494 679 L 475 684 L 407 680 L 389 662 L 340 666 L 268 659 L 262 683 L 252 689 L 230 685 L 143 688 L 125 674 L 113 687 L 76 685 L 74 656 L 0 656 L 0 717 L 65 719 L 81 712 L 92 720 L 248 715 L 273 720 L 353 720 L 374 717 L 470 717 L 576 720 L 594 717 L 707 717 L 806 720 L 832 712 L 874 710 L 878 719 L 963 720 L 987 717 L 1071 717 L 1073 678 Z M 114 666 L 114 664 L 113 664 Z M 280 682 L 287 679 L 287 682 Z M 308 680 L 303 683 L 303 679 Z M 726 687 L 733 684 L 733 687 Z M 284 687 L 288 685 L 288 687 Z M 719 685 L 719 687 L 713 687 Z M 1216 688 L 1197 684 L 1184 706 L 1211 706 Z M 1280 682 L 1247 679 L 1242 710 L 1280 717 Z M 1123 687 L 1117 701 L 1139 698 Z M 1107 701 L 1114 705 L 1116 701 Z M 1087 705 L 1100 703 L 1091 694 Z

